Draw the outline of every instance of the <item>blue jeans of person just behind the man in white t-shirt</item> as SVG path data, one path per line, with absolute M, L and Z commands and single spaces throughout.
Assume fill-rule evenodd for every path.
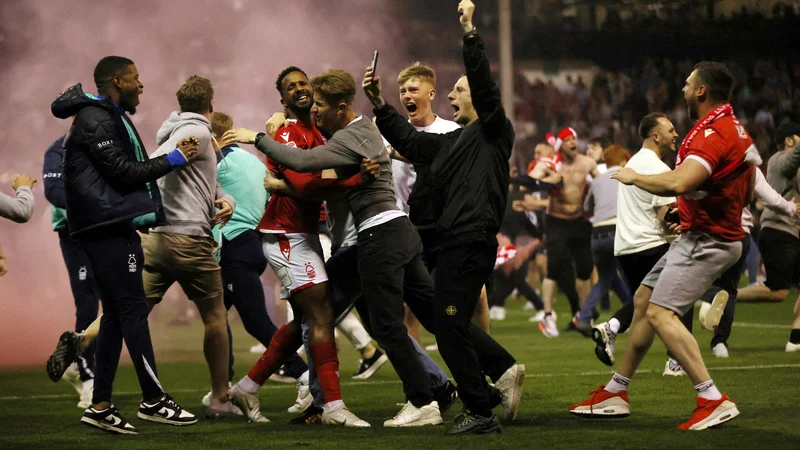
M 622 267 L 614 256 L 614 235 L 613 231 L 592 234 L 592 258 L 597 267 L 598 280 L 581 307 L 580 321 L 583 323 L 589 323 L 595 306 L 609 288 L 616 292 L 623 304 L 633 302 L 628 283 L 622 277 Z

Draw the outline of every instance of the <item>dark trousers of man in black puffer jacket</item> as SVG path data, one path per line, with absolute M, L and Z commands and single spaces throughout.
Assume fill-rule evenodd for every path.
M 113 225 L 88 233 L 80 239 L 94 268 L 103 318 L 97 336 L 93 403 L 110 402 L 114 378 L 119 366 L 122 342 L 139 378 L 145 400 L 163 394 L 158 381 L 150 328 L 147 324 L 147 300 L 142 283 L 144 253 L 139 235 L 132 224 Z

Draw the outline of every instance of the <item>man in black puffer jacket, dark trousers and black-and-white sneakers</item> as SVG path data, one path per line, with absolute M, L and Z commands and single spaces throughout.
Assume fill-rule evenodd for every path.
M 94 70 L 99 96 L 77 84 L 53 102 L 54 116 L 74 121 L 64 141 L 64 194 L 71 236 L 91 261 L 100 288 L 103 317 L 97 339 L 94 395 L 81 422 L 120 434 L 136 430 L 111 403 L 111 386 L 122 341 L 128 347 L 143 401 L 138 417 L 190 425 L 197 418 L 165 394 L 156 375 L 142 284 L 144 256 L 137 229 L 164 223 L 155 181 L 182 167 L 198 151 L 194 137 L 160 158 L 149 159 L 125 112 L 134 114 L 142 84 L 133 61 L 119 56 L 100 60 Z M 57 380 L 74 360 L 81 336 L 65 332 L 47 364 Z

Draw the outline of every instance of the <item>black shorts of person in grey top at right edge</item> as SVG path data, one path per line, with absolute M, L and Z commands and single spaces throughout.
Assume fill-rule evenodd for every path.
M 780 291 L 800 283 L 800 239 L 774 228 L 762 228 L 759 234 L 758 250 L 767 271 L 764 284 Z

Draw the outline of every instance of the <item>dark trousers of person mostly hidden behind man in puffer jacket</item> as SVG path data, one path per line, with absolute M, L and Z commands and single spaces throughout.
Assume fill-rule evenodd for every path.
M 89 256 L 81 248 L 80 243 L 71 239 L 68 232 L 64 231 L 59 233 L 59 244 L 61 256 L 64 257 L 64 264 L 67 266 L 69 274 L 72 298 L 75 301 L 75 331 L 80 333 L 97 319 L 100 294 L 97 290 L 97 282 L 94 278 L 92 264 L 89 262 Z M 96 342 L 92 342 L 78 356 L 78 370 L 83 381 L 94 378 L 96 348 Z

